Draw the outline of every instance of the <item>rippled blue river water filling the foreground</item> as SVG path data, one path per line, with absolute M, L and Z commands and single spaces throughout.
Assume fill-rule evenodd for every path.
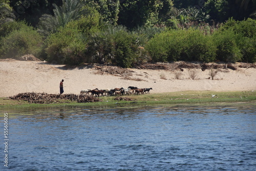
M 251 103 L 11 113 L 0 170 L 256 170 Z

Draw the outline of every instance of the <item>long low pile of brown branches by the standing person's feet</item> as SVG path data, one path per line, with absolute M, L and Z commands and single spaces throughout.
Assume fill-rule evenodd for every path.
M 89 96 L 89 95 L 88 95 Z M 76 101 L 78 103 L 86 103 L 86 102 L 98 102 L 101 99 L 98 99 L 94 96 L 83 97 L 81 95 L 76 94 L 47 94 L 47 93 L 19 93 L 15 96 L 9 97 L 14 100 L 25 100 L 29 103 L 63 103 L 65 101 L 60 101 L 61 99 Z

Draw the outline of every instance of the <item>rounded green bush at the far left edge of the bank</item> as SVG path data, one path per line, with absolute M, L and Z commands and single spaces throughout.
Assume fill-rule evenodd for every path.
M 33 27 L 24 23 L 12 23 L 16 26 L 13 31 L 1 38 L 0 54 L 2 58 L 13 58 L 26 54 L 33 54 L 36 57 L 41 52 L 42 37 Z M 6 25 L 6 27 L 11 26 Z

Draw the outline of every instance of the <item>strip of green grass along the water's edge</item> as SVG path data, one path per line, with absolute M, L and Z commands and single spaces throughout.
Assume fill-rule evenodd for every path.
M 212 95 L 215 95 L 212 97 Z M 126 96 L 134 101 L 117 101 L 115 97 L 100 97 L 102 102 L 77 103 L 62 100 L 62 103 L 34 104 L 27 101 L 0 98 L 0 109 L 6 108 L 60 108 L 62 106 L 88 106 L 88 107 L 111 107 L 111 106 L 133 106 L 133 105 L 155 105 L 155 104 L 197 104 L 197 103 L 221 103 L 221 102 L 253 102 L 256 101 L 254 91 L 185 91 L 170 93 L 152 93 L 144 95 Z

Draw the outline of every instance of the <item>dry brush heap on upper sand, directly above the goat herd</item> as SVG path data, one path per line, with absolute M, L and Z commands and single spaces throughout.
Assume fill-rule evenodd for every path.
M 115 76 L 133 76 L 132 72 L 128 69 L 115 66 L 96 66 L 94 69 L 98 70 L 96 74 L 111 74 Z

